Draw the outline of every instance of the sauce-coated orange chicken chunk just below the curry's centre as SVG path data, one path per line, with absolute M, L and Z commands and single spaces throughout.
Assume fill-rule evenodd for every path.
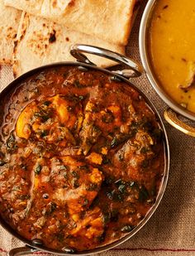
M 69 214 L 74 215 L 92 204 L 98 195 L 103 175 L 98 168 L 83 165 L 82 162 L 77 162 L 72 157 L 62 157 L 61 160 L 65 166 L 69 166 L 69 171 L 66 171 L 66 181 L 64 181 L 68 187 L 57 188 L 53 199 L 57 200 L 60 205 L 68 205 Z M 75 177 L 76 187 L 73 183 Z

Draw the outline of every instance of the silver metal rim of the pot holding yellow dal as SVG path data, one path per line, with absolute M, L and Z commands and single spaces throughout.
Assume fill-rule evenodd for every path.
M 169 105 L 176 113 L 181 114 L 185 118 L 189 118 L 195 121 L 195 114 L 193 112 L 184 109 L 181 105 L 177 104 L 174 99 L 172 99 L 169 94 L 167 94 L 162 86 L 159 86 L 159 82 L 155 79 L 154 72 L 150 65 L 149 53 L 147 51 L 147 35 L 148 29 L 150 27 L 150 17 L 152 15 L 153 9 L 155 7 L 156 0 L 149 0 L 145 6 L 145 11 L 141 17 L 140 31 L 139 31 L 139 49 L 140 49 L 140 59 L 142 65 L 145 69 L 146 76 L 150 81 L 150 85 L 155 89 L 159 97 L 164 100 L 166 104 Z

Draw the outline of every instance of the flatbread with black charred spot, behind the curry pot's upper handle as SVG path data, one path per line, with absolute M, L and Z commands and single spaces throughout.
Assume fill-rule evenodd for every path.
M 75 43 L 100 46 L 125 54 L 124 46 L 110 44 L 23 12 L 14 49 L 14 74 L 18 76 L 40 65 L 53 62 L 75 60 L 69 53 L 69 47 Z M 102 67 L 116 64 L 112 60 L 93 55 L 90 55 L 89 59 Z

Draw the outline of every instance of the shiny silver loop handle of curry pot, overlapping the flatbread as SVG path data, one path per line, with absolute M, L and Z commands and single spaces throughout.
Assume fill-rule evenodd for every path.
M 93 54 L 96 56 L 101 56 L 104 58 L 107 58 L 109 60 L 114 60 L 119 64 L 125 64 L 130 68 L 130 70 L 118 70 L 113 71 L 114 73 L 117 73 L 118 75 L 122 75 L 125 78 L 131 78 L 140 76 L 143 72 L 143 68 L 140 64 L 136 63 L 136 61 L 131 60 L 130 58 L 127 58 L 126 56 L 122 56 L 121 54 L 109 51 L 97 46 L 88 46 L 88 45 L 73 45 L 70 47 L 70 54 L 74 56 L 78 61 L 84 62 L 89 65 L 95 65 L 93 62 L 88 60 L 88 57 L 83 55 L 84 53 Z

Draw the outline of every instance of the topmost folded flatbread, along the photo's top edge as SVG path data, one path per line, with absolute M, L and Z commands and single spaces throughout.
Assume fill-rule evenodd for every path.
M 4 0 L 33 15 L 126 46 L 136 0 Z

